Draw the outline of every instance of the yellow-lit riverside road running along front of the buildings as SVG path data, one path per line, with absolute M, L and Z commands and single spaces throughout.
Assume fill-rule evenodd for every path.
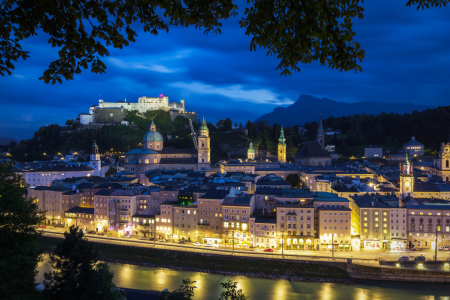
M 45 235 L 55 234 L 55 237 L 61 237 L 61 235 L 67 231 L 67 228 L 47 227 L 44 229 Z M 204 247 L 193 246 L 190 243 L 177 244 L 172 241 L 167 243 L 143 241 L 138 237 L 131 238 L 118 238 L 108 236 L 98 236 L 86 234 L 86 238 L 93 242 L 117 244 L 117 245 L 129 245 L 145 248 L 157 248 L 167 250 L 178 250 L 196 253 L 211 253 L 211 254 L 223 254 L 234 256 L 250 256 L 250 257 L 263 257 L 263 258 L 281 258 L 292 260 L 333 260 L 333 253 L 331 251 L 299 251 L 299 250 L 284 250 L 284 256 L 282 256 L 281 250 L 275 250 L 273 253 L 264 252 L 263 249 L 251 249 L 251 250 L 235 250 L 218 248 L 218 247 Z M 446 261 L 450 260 L 449 251 L 438 251 L 438 260 Z M 424 249 L 423 251 L 383 251 L 383 250 L 368 250 L 362 249 L 361 251 L 335 251 L 335 261 L 346 261 L 346 259 L 353 259 L 354 263 L 371 264 L 377 260 L 397 261 L 399 256 L 408 256 L 412 260 L 415 256 L 425 256 L 427 260 L 434 260 L 435 252 L 431 249 Z M 375 263 L 378 265 L 378 263 Z

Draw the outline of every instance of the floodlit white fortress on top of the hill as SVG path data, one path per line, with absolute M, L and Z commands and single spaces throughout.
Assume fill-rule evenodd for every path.
M 167 95 L 159 95 L 159 97 L 139 97 L 138 102 L 104 102 L 102 99 L 98 101 L 98 105 L 89 107 L 89 113 L 81 113 L 78 115 L 77 121 L 83 127 L 98 128 L 105 125 L 129 125 L 126 115 L 128 111 L 136 111 L 144 114 L 147 111 L 164 110 L 170 115 L 173 121 L 176 117 L 182 116 L 191 119 L 197 123 L 196 112 L 186 112 L 184 100 L 180 102 L 169 102 Z

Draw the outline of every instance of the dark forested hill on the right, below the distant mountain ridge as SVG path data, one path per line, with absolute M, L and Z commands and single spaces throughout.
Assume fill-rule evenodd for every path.
M 313 139 L 318 128 L 317 122 L 306 123 L 306 138 Z M 415 136 L 425 145 L 430 154 L 439 151 L 440 144 L 447 142 L 450 134 L 450 106 L 427 109 L 410 114 L 381 113 L 374 115 L 353 115 L 348 117 L 327 118 L 323 127 L 340 129 L 342 136 L 327 137 L 327 143 L 337 146 L 343 154 L 354 154 L 353 150 L 362 145 L 382 145 L 386 149 L 400 149 L 403 144 Z

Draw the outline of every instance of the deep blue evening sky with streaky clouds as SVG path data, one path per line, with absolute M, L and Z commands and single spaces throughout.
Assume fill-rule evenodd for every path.
M 300 94 L 337 101 L 413 102 L 448 105 L 450 8 L 416 11 L 407 0 L 366 1 L 364 19 L 354 20 L 355 40 L 366 51 L 363 72 L 339 72 L 319 64 L 281 77 L 276 57 L 249 51 L 240 16 L 224 21 L 223 33 L 204 35 L 172 27 L 168 34 L 138 32 L 136 43 L 111 56 L 103 75 L 85 70 L 75 80 L 47 85 L 38 77 L 57 58 L 48 36 L 23 41 L 30 58 L 0 78 L 0 137 L 30 138 L 40 126 L 64 124 L 90 105 L 163 93 L 186 100 L 186 109 L 216 122 L 245 123 Z

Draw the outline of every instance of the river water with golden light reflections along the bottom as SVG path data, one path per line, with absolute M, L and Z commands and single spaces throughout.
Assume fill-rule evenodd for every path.
M 219 299 L 222 292 L 220 283 L 227 279 L 237 281 L 238 287 L 250 297 L 250 300 L 450 300 L 449 284 L 367 281 L 364 284 L 343 285 L 233 277 L 114 263 L 109 263 L 109 266 L 114 272 L 115 284 L 130 289 L 156 291 L 169 289 L 172 291 L 179 288 L 184 278 L 189 277 L 196 281 L 197 288 L 194 290 L 194 299 L 202 300 Z M 36 282 L 42 282 L 44 272 L 50 270 L 51 266 L 47 260 L 40 263 Z

